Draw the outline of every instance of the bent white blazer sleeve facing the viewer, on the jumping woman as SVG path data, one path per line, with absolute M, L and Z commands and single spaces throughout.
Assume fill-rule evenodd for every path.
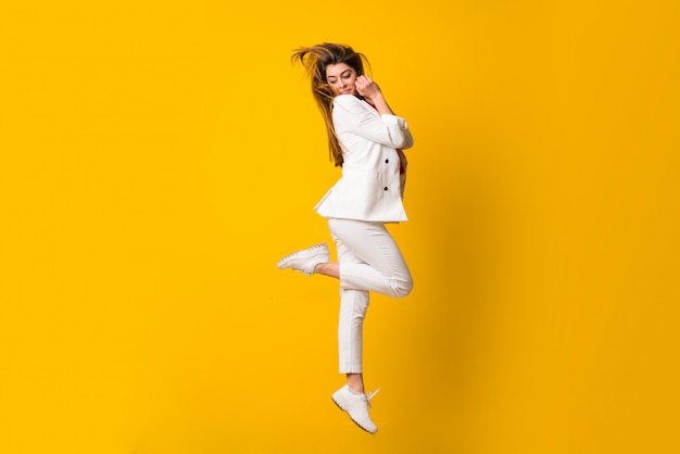
M 406 121 L 396 115 L 378 114 L 365 101 L 352 94 L 340 94 L 333 101 L 336 131 L 356 134 L 365 139 L 395 149 L 413 147 Z

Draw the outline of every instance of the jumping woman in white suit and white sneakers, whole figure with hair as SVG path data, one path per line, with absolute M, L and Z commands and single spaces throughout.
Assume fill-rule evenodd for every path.
M 413 287 L 408 267 L 385 227 L 407 220 L 402 150 L 413 146 L 413 138 L 406 122 L 394 115 L 378 85 L 364 74 L 364 55 L 351 47 L 301 48 L 292 60 L 307 70 L 326 122 L 330 155 L 342 167 L 340 180 L 315 206 L 327 218 L 338 262 L 330 261 L 328 247 L 322 243 L 287 255 L 278 267 L 339 279 L 339 358 L 347 384 L 332 400 L 357 426 L 376 433 L 368 415 L 372 394 L 364 391 L 363 321 L 368 292 L 402 298 Z

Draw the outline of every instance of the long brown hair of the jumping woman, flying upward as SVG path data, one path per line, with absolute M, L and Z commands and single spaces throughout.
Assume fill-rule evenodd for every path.
M 291 56 L 293 63 L 300 62 L 306 70 L 312 81 L 312 96 L 322 111 L 326 133 L 328 135 L 328 151 L 330 160 L 336 166 L 342 166 L 342 148 L 332 125 L 332 100 L 335 93 L 326 80 L 326 67 L 344 63 L 356 71 L 356 75 L 364 74 L 364 62 L 370 66 L 368 60 L 358 52 L 344 45 L 324 42 L 308 48 L 300 48 Z

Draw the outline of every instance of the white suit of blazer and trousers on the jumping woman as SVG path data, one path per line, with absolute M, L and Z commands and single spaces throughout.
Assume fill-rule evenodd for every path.
M 340 263 L 340 373 L 362 373 L 368 292 L 401 298 L 413 288 L 408 267 L 385 227 L 407 220 L 402 204 L 405 172 L 400 174 L 396 149 L 411 148 L 413 137 L 404 118 L 380 115 L 351 94 L 336 97 L 332 121 L 343 150 L 342 177 L 314 209 L 328 218 Z

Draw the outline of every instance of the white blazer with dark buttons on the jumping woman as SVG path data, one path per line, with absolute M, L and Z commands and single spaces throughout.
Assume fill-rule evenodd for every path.
M 342 147 L 342 177 L 314 210 L 324 217 L 408 220 L 402 204 L 405 175 L 400 178 L 396 151 L 413 147 L 406 121 L 380 115 L 366 101 L 340 94 L 333 100 L 332 122 Z

